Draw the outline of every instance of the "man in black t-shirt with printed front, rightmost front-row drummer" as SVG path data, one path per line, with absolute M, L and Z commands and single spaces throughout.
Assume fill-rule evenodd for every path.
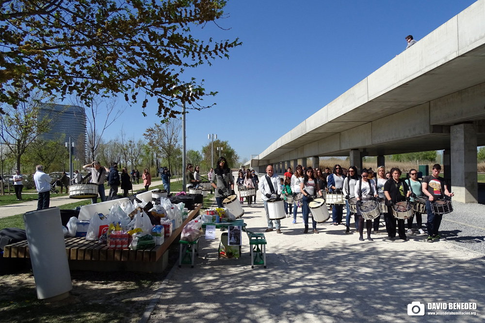
M 439 240 L 441 237 L 438 234 L 439 225 L 441 224 L 442 214 L 434 214 L 431 209 L 431 202 L 434 200 L 442 199 L 444 196 L 452 197 L 454 194 L 448 191 L 445 180 L 439 177 L 441 172 L 441 165 L 433 165 L 431 175 L 423 178 L 422 181 L 422 191 L 423 194 L 428 197 L 426 200 L 426 212 L 428 213 L 428 222 L 426 226 L 428 227 L 428 242 L 433 242 Z

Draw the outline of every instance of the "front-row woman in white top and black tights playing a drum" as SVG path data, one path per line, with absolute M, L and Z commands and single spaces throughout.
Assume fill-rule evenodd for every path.
M 362 169 L 361 172 L 361 179 L 354 187 L 354 194 L 357 200 L 357 215 L 358 215 L 358 222 L 359 222 L 359 241 L 364 241 L 363 233 L 364 233 L 364 217 L 361 213 L 361 205 L 365 201 L 377 199 L 377 187 L 375 186 L 374 180 L 369 180 L 367 176 L 369 172 L 367 169 Z M 379 205 L 376 203 L 376 207 L 378 208 Z M 371 229 L 372 229 L 372 220 L 366 220 L 366 228 L 367 228 L 367 240 L 373 241 L 371 238 Z

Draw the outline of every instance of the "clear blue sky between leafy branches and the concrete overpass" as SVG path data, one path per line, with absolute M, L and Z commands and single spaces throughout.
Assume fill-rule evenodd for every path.
M 311 114 L 401 53 L 414 39 L 474 0 L 289 1 L 230 0 L 218 20 L 196 31 L 201 39 L 239 37 L 230 59 L 188 70 L 205 79 L 213 108 L 187 114 L 187 149 L 201 150 L 209 133 L 228 140 L 243 157 L 259 154 Z M 190 77 L 187 77 L 190 79 Z M 128 135 L 142 138 L 157 121 L 156 104 L 128 108 Z M 129 126 L 127 126 L 129 125 Z M 117 129 L 109 129 L 114 137 Z

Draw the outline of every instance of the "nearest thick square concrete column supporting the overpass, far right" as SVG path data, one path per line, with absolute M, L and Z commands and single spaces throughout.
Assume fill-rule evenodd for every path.
M 453 200 L 464 203 L 478 202 L 477 183 L 477 127 L 461 123 L 450 128 L 451 178 Z M 444 157 L 444 156 L 443 156 Z

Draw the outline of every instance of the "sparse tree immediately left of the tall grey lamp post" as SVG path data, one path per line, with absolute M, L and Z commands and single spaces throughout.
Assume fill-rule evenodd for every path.
M 180 120 L 177 119 L 165 119 L 162 124 L 155 124 L 153 127 L 147 128 L 143 134 L 152 151 L 168 161 L 170 171 L 172 171 L 173 157 L 180 146 L 180 123 Z

